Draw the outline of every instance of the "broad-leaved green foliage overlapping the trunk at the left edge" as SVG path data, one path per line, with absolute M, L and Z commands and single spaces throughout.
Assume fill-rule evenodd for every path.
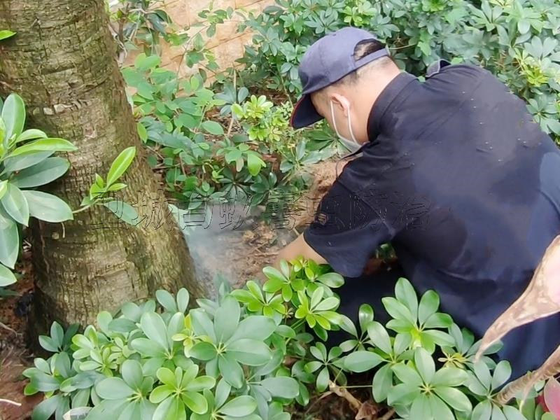
M 15 282 L 21 226 L 35 217 L 47 222 L 73 218 L 72 210 L 54 195 L 35 188 L 55 181 L 70 167 L 57 151 L 75 151 L 64 139 L 52 139 L 41 130 L 24 130 L 25 104 L 18 94 L 0 99 L 0 288 Z M 1 291 L 1 290 L 0 290 Z

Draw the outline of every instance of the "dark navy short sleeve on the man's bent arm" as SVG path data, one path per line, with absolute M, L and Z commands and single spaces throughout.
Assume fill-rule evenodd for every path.
M 336 272 L 358 277 L 377 247 L 390 241 L 393 234 L 383 215 L 335 181 L 303 237 Z

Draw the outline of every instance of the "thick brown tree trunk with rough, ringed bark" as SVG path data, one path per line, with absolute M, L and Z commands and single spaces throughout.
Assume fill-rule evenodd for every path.
M 137 209 L 144 219 L 138 227 L 117 224 L 102 206 L 74 221 L 32 225 L 39 328 L 53 319 L 90 323 L 99 310 L 153 296 L 158 288 L 186 286 L 193 297 L 204 295 L 144 159 L 104 0 L 0 0 L 0 29 L 18 32 L 0 43 L 0 93 L 23 97 L 29 127 L 78 146 L 68 155 L 69 173 L 50 192 L 77 209 L 94 174 L 105 176 L 118 153 L 137 146 L 118 199 Z

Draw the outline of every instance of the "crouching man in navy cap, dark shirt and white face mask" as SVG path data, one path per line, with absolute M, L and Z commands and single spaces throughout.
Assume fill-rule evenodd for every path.
M 521 295 L 560 232 L 560 152 L 488 71 L 440 60 L 426 81 L 400 72 L 372 34 L 346 28 L 321 38 L 300 66 L 293 127 L 325 118 L 359 156 L 323 198 L 314 223 L 281 251 L 328 262 L 346 277 L 340 310 L 356 319 L 406 276 L 419 293 L 482 337 Z M 363 274 L 391 242 L 400 270 Z M 513 377 L 556 348 L 560 317 L 519 328 L 499 357 Z

